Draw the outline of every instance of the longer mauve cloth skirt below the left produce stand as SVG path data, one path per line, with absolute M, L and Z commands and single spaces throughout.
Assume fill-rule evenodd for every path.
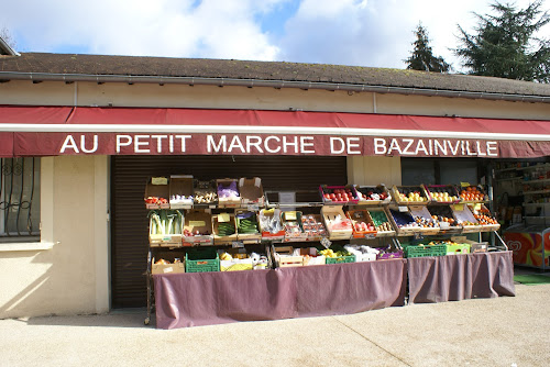
M 156 326 L 355 313 L 404 305 L 406 260 L 154 275 Z

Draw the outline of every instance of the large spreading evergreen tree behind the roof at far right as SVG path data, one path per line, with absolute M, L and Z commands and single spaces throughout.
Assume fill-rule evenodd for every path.
M 476 34 L 459 25 L 461 46 L 454 53 L 464 60 L 462 66 L 472 75 L 549 82 L 550 41 L 535 37 L 550 22 L 540 7 L 540 0 L 519 10 L 496 1 L 491 4 L 496 15 L 474 13 Z

